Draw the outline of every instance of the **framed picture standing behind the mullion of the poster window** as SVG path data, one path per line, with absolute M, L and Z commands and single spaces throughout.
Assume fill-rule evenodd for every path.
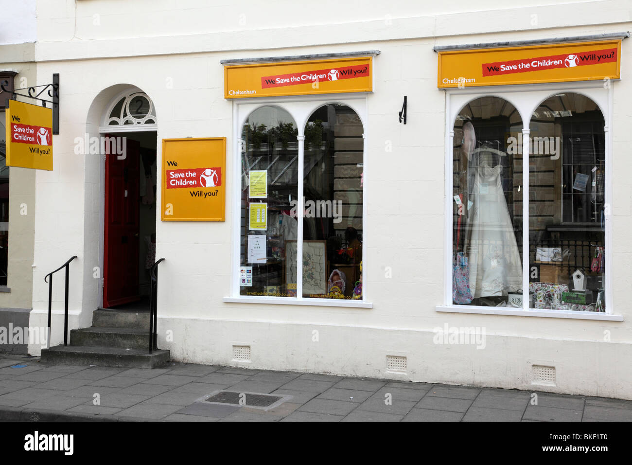
M 286 240 L 285 276 L 296 285 L 296 240 Z M 327 294 L 327 241 L 303 240 L 303 295 Z

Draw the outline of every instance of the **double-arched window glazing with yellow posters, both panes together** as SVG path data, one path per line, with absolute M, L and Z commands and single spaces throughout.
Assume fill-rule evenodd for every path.
M 362 300 L 363 125 L 344 104 L 304 117 L 263 106 L 243 125 L 240 295 Z

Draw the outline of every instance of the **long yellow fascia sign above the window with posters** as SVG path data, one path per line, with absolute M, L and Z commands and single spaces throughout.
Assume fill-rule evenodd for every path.
M 372 92 L 372 57 L 280 61 L 224 67 L 224 97 Z

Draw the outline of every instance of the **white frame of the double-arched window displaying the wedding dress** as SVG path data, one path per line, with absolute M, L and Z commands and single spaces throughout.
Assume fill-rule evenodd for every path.
M 478 313 L 513 316 L 540 316 L 547 318 L 599 319 L 623 321 L 623 316 L 614 314 L 612 305 L 612 101 L 613 84 L 604 81 L 562 82 L 553 84 L 496 85 L 489 87 L 465 87 L 447 89 L 446 92 L 446 192 L 444 211 L 444 304 L 435 307 L 438 312 Z M 605 192 L 604 202 L 609 204 L 610 214 L 605 215 L 605 313 L 549 310 L 529 308 L 529 138 L 533 111 L 547 98 L 559 92 L 576 92 L 592 99 L 604 115 L 605 131 Z M 499 97 L 513 104 L 520 113 L 523 124 L 523 308 L 485 307 L 458 305 L 452 302 L 452 234 L 453 234 L 453 139 L 454 121 L 466 103 L 479 97 Z M 526 200 L 525 200 L 526 199 Z M 526 255 L 526 257 L 525 257 Z M 608 303 L 610 302 L 610 303 Z

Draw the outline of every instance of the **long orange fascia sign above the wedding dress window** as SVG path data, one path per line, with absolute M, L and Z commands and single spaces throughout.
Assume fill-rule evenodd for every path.
M 621 39 L 439 51 L 437 87 L 619 79 Z

